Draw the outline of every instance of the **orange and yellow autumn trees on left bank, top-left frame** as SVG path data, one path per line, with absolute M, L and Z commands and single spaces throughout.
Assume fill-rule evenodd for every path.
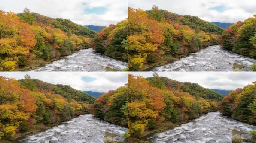
M 24 71 L 89 48 L 94 31 L 67 19 L 53 19 L 24 9 L 0 10 L 0 71 Z

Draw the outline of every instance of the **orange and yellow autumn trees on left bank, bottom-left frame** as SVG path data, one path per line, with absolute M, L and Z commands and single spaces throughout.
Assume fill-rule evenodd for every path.
M 0 140 L 10 140 L 89 113 L 94 98 L 70 86 L 52 85 L 25 75 L 0 77 Z M 16 135 L 18 134 L 18 135 Z

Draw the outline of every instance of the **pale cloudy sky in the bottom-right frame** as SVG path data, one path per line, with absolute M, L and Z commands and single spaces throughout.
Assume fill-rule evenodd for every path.
M 151 77 L 153 72 L 130 72 Z M 209 89 L 235 90 L 256 81 L 255 72 L 158 72 L 159 76 L 180 82 L 192 82 Z

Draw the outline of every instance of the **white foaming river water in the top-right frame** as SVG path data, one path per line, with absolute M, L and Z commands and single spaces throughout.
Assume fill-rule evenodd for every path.
M 210 46 L 189 54 L 171 64 L 156 67 L 153 71 L 234 71 L 233 64 L 244 65 L 240 71 L 252 71 L 249 67 L 256 60 L 223 49 L 220 45 Z

